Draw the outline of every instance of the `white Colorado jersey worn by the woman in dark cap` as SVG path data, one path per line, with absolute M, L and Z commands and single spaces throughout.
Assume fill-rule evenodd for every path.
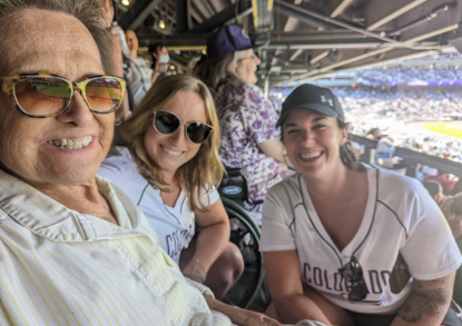
M 411 278 L 401 292 L 392 293 L 390 279 L 400 253 L 411 275 L 421 280 L 451 274 L 462 257 L 444 216 L 419 180 L 374 167 L 366 166 L 366 171 L 368 198 L 363 220 L 342 251 L 324 229 L 299 174 L 273 186 L 266 195 L 261 250 L 297 250 L 302 280 L 337 306 L 392 314 L 406 299 L 412 284 Z M 338 273 L 352 256 L 361 264 L 367 285 L 362 302 L 348 300 L 351 284 Z

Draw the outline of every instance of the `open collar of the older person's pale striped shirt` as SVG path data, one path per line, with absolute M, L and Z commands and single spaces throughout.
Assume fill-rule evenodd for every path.
M 96 177 L 99 191 L 119 225 L 69 209 L 18 178 L 0 170 L 0 209 L 31 233 L 53 241 L 86 241 L 149 235 L 142 213 L 121 188 Z

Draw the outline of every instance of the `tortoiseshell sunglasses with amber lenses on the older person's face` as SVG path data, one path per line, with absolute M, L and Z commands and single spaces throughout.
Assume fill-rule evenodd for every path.
M 20 112 L 32 118 L 52 118 L 65 112 L 73 91 L 80 92 L 92 112 L 110 113 L 120 107 L 125 88 L 122 78 L 106 75 L 78 82 L 46 72 L 0 78 L 1 92 L 13 99 Z

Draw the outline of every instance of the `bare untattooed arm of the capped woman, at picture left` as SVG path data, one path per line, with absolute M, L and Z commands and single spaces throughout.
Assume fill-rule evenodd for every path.
M 314 299 L 304 294 L 296 250 L 266 251 L 264 261 L 269 293 L 283 323 L 312 319 L 326 325 L 346 325 L 342 309 L 317 293 Z

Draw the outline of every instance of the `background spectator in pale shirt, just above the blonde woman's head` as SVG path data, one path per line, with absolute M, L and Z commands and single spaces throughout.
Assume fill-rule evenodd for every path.
M 125 38 L 127 39 L 127 46 L 130 50 L 130 66 L 131 66 L 131 80 L 130 80 L 130 90 L 134 96 L 134 107 L 136 108 L 145 95 L 150 89 L 155 77 L 153 69 L 148 67 L 146 60 L 141 57 L 138 57 L 138 38 L 132 30 L 127 30 L 125 32 Z

